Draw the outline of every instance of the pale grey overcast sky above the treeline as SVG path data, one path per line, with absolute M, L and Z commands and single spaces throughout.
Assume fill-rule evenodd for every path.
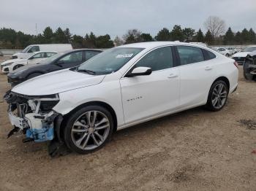
M 198 30 L 210 15 L 233 31 L 256 31 L 256 0 L 0 0 L 0 28 L 36 34 L 46 26 L 72 34 L 123 36 L 128 29 L 150 33 L 175 24 Z

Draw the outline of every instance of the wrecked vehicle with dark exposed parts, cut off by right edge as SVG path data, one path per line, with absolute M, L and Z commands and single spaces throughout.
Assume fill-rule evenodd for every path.
M 256 80 L 256 50 L 249 52 L 244 61 L 244 78 Z

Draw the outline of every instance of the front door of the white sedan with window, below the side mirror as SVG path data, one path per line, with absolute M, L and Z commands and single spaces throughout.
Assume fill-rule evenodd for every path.
M 147 76 L 120 79 L 126 123 L 171 112 L 179 105 L 179 70 L 171 47 L 159 47 L 138 61 L 132 69 L 146 66 Z

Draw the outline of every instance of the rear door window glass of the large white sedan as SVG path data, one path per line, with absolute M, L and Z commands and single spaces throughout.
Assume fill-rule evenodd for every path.
M 177 46 L 181 65 L 204 61 L 203 52 L 198 47 Z

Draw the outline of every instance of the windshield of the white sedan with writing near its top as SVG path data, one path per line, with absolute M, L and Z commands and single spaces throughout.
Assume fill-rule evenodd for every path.
M 110 74 L 141 52 L 143 48 L 116 47 L 99 53 L 78 66 L 78 71 L 93 71 L 94 74 Z

